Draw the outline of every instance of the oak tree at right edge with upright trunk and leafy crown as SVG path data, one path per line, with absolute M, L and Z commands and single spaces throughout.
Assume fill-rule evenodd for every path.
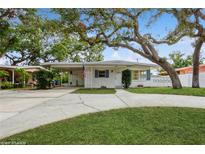
M 159 13 L 154 16 L 158 18 L 161 14 L 172 14 L 178 22 L 174 31 L 157 43 L 175 44 L 181 38 L 188 36 L 195 40 L 193 52 L 193 77 L 192 87 L 199 88 L 199 65 L 200 52 L 205 42 L 205 10 L 204 9 L 159 9 Z

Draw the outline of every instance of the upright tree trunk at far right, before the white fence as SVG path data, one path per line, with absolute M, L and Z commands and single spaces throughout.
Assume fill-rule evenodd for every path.
M 200 51 L 203 45 L 203 40 L 199 38 L 196 41 L 196 46 L 193 54 L 193 73 L 192 73 L 192 88 L 199 88 L 199 60 L 200 60 Z

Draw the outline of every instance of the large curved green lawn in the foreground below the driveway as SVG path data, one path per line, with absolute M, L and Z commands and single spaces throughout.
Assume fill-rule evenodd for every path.
M 127 108 L 82 115 L 5 138 L 26 144 L 205 144 L 205 110 Z

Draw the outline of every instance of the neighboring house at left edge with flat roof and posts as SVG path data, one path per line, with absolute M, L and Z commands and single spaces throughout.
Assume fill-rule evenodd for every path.
M 33 72 L 39 71 L 39 70 L 45 70 L 45 68 L 41 66 L 6 66 L 6 65 L 0 65 L 0 70 L 5 70 L 9 73 L 8 81 L 11 81 L 12 84 L 18 83 L 19 75 L 15 72 L 16 68 L 24 68 L 29 74 L 30 77 L 28 79 L 27 84 L 33 84 L 35 81 L 33 80 Z

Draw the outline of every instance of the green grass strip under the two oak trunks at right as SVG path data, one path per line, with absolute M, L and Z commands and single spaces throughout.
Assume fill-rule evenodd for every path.
M 163 88 L 129 88 L 127 91 L 140 94 L 174 94 L 174 95 L 190 95 L 205 96 L 205 88 L 182 88 L 173 89 L 171 87 Z

